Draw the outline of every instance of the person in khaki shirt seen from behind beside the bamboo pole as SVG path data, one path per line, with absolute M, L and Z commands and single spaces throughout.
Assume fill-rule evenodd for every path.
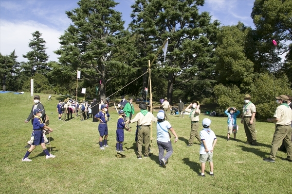
M 143 142 L 145 143 L 145 152 L 144 157 L 149 156 L 149 144 L 150 144 L 150 125 L 153 122 L 157 121 L 157 118 L 153 116 L 152 113 L 147 111 L 147 105 L 145 102 L 141 102 L 139 104 L 140 113 L 136 114 L 136 116 L 126 122 L 126 125 L 128 123 L 133 123 L 138 121 L 138 159 L 142 159 L 142 146 Z

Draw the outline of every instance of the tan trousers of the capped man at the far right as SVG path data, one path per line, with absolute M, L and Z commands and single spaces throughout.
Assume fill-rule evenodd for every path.
M 292 127 L 290 125 L 280 126 L 276 125 L 274 137 L 272 141 L 272 148 L 270 152 L 270 158 L 275 160 L 279 146 L 281 146 L 284 140 L 284 145 L 287 150 L 287 158 L 292 160 L 292 142 L 291 142 Z

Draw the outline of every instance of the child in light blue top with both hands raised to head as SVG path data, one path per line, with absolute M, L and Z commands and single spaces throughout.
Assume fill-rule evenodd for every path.
M 230 134 L 233 133 L 234 141 L 236 140 L 236 134 L 237 134 L 237 124 L 236 124 L 236 117 L 238 114 L 240 114 L 240 111 L 238 111 L 236 108 L 228 108 L 224 112 L 227 116 L 227 141 L 229 141 Z

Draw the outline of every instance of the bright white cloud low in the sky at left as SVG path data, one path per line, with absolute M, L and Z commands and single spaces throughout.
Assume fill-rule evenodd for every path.
M 0 20 L 0 52 L 2 55 L 10 54 L 14 49 L 18 56 L 18 62 L 27 61 L 22 57 L 31 49 L 28 47 L 29 41 L 33 38 L 32 33 L 39 31 L 46 41 L 46 53 L 49 61 L 57 61 L 57 55 L 53 52 L 60 47 L 58 37 L 63 31 L 57 31 L 47 25 L 36 21 L 7 21 Z

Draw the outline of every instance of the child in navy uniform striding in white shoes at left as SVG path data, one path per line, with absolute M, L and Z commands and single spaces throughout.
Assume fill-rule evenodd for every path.
M 50 154 L 43 137 L 43 130 L 46 130 L 48 132 L 52 132 L 53 129 L 49 128 L 48 126 L 45 126 L 45 124 L 41 120 L 41 113 L 43 110 L 41 109 L 35 109 L 34 115 L 33 115 L 33 135 L 32 135 L 32 146 L 26 151 L 22 162 L 31 162 L 28 158 L 30 153 L 36 148 L 36 146 L 41 145 L 43 152 L 46 154 L 46 159 L 55 158 L 54 155 Z

